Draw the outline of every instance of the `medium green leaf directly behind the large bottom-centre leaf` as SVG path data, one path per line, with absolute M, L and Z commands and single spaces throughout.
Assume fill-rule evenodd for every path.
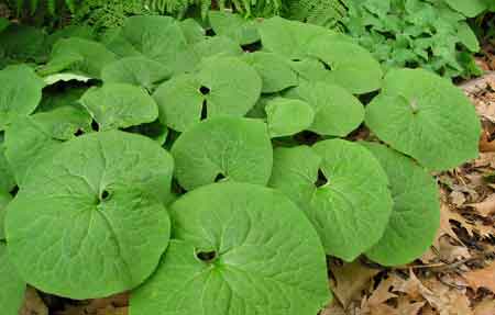
M 272 144 L 257 120 L 217 117 L 183 133 L 172 147 L 175 176 L 186 190 L 219 180 L 266 184 L 272 172 Z

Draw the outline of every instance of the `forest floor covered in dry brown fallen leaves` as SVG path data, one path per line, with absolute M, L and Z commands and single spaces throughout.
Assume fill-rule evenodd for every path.
M 333 303 L 320 315 L 495 315 L 495 47 L 487 75 L 460 85 L 483 124 L 481 155 L 436 175 L 441 223 L 433 246 L 408 266 L 329 261 Z M 68 301 L 29 289 L 21 315 L 127 315 L 128 295 Z M 50 310 L 50 311 L 48 311 Z

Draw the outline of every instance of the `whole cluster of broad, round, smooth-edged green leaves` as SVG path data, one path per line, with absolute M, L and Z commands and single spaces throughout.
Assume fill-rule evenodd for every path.
M 430 172 L 477 155 L 463 93 L 422 69 L 384 76 L 323 27 L 210 20 L 216 35 L 166 16 L 100 41 L 63 30 L 46 60 L 0 70 L 6 314 L 30 284 L 131 291 L 140 315 L 315 315 L 326 256 L 395 266 L 430 246 Z

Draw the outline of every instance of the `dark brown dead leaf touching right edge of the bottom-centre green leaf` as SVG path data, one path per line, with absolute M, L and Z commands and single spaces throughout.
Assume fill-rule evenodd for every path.
M 339 302 L 346 308 L 353 299 L 361 300 L 361 291 L 365 290 L 370 281 L 380 270 L 371 269 L 360 261 L 337 266 L 332 263 L 330 270 L 336 279 L 332 290 Z

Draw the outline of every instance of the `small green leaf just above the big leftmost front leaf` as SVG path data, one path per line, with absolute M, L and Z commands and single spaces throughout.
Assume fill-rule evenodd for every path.
M 158 117 L 153 98 L 143 88 L 127 83 L 91 88 L 80 102 L 102 131 L 151 123 Z

